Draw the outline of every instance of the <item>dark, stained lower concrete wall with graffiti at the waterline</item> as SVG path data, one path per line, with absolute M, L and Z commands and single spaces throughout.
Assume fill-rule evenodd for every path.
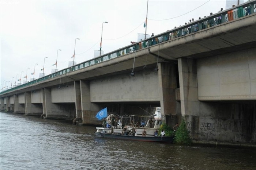
M 210 112 L 209 112 L 210 110 Z M 200 102 L 199 116 L 185 116 L 193 139 L 255 143 L 256 103 Z

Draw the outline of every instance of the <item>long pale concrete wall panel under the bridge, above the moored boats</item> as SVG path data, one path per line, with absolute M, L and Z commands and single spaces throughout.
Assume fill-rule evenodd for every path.
M 159 101 L 158 73 L 154 70 L 90 81 L 91 102 Z

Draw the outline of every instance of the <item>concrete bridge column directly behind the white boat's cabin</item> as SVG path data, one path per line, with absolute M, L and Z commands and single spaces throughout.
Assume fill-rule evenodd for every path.
M 158 82 L 162 119 L 165 115 L 176 115 L 177 105 L 177 66 L 170 63 L 158 63 Z M 166 122 L 166 120 L 162 120 Z M 166 122 L 167 123 L 167 122 Z

